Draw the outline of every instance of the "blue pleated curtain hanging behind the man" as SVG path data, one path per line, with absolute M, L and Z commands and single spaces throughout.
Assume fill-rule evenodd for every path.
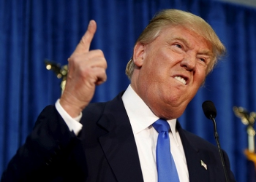
M 249 181 L 246 126 L 233 106 L 256 111 L 256 9 L 207 0 L 0 0 L 0 174 L 40 111 L 61 95 L 61 79 L 45 68 L 45 60 L 66 65 L 89 20 L 96 20 L 91 50 L 104 52 L 108 81 L 97 87 L 92 102 L 110 100 L 129 84 L 124 72 L 139 34 L 166 8 L 203 17 L 227 47 L 179 121 L 215 145 L 213 124 L 201 108 L 212 100 L 219 140 L 236 180 Z

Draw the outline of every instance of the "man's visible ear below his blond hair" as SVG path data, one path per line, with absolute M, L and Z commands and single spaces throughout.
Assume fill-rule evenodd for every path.
M 136 66 L 141 67 L 143 65 L 143 60 L 145 57 L 145 45 L 138 42 L 135 44 L 135 48 L 133 50 L 133 62 Z

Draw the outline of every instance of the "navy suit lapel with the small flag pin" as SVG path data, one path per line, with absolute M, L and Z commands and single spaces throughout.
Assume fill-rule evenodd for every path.
M 183 144 L 187 167 L 189 170 L 190 182 L 205 182 L 209 180 L 209 169 L 207 166 L 206 158 L 203 157 L 202 151 L 193 145 L 190 138 L 187 137 L 186 132 L 181 128 L 181 125 L 177 122 L 177 130 L 181 136 Z M 200 174 L 200 175 L 198 175 Z

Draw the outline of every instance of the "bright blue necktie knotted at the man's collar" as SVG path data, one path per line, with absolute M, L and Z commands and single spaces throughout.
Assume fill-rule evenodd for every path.
M 170 153 L 170 125 L 164 119 L 158 119 L 153 124 L 154 129 L 157 130 L 157 173 L 158 182 L 178 182 L 178 173 L 173 156 Z

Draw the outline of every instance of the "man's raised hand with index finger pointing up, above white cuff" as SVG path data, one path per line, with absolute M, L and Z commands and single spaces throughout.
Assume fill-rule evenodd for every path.
M 102 50 L 89 50 L 96 29 L 96 22 L 91 20 L 86 33 L 68 59 L 67 83 L 60 104 L 72 117 L 78 116 L 90 103 L 96 85 L 107 79 L 107 62 Z

